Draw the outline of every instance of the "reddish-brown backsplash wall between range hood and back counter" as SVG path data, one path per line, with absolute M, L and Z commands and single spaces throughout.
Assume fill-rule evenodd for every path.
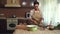
M 24 17 L 25 12 L 30 11 L 32 8 L 0 8 L 0 14 L 4 14 L 4 17 L 16 15 L 17 17 Z

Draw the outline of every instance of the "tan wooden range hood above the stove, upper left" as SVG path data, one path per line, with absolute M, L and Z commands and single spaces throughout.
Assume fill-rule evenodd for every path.
M 7 0 L 5 7 L 21 7 L 20 0 Z

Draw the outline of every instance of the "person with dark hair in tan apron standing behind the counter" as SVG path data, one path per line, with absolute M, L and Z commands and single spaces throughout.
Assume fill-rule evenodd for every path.
M 42 24 L 42 13 L 39 10 L 39 2 L 34 2 L 34 9 L 30 11 L 30 20 L 33 21 L 33 24 L 39 25 Z

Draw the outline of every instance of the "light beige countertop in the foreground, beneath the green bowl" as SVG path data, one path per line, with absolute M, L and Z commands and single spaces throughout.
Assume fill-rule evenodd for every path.
M 60 30 L 37 30 L 37 31 L 27 31 L 22 29 L 16 29 L 13 34 L 60 34 Z

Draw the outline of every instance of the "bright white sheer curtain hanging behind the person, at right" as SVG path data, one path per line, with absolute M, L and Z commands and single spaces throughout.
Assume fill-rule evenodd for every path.
M 42 10 L 44 23 L 54 26 L 60 23 L 60 0 L 37 0 L 40 2 L 40 10 Z

